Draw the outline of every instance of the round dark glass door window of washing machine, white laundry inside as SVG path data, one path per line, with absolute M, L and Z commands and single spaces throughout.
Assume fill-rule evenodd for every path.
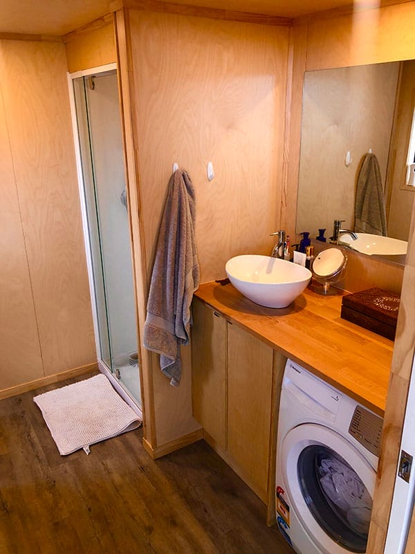
M 347 461 L 326 445 L 309 445 L 299 454 L 297 474 L 318 524 L 347 550 L 364 553 L 372 499 Z

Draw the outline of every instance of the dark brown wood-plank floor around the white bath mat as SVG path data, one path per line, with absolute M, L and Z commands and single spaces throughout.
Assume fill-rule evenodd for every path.
M 57 386 L 0 401 L 0 554 L 293 554 L 203 441 L 152 461 L 139 429 L 60 456 L 33 402 Z

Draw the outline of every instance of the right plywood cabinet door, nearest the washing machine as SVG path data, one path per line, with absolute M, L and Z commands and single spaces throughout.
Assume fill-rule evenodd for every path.
M 228 324 L 228 454 L 268 501 L 273 348 Z

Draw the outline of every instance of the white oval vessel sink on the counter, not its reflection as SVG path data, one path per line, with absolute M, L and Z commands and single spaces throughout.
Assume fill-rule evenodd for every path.
M 270 256 L 236 256 L 226 262 L 225 270 L 235 289 L 267 307 L 290 305 L 311 279 L 306 267 Z

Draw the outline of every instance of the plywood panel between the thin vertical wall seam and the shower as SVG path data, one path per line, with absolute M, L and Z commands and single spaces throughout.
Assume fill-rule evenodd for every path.
M 45 375 L 95 361 L 63 44 L 2 41 L 0 74 Z

